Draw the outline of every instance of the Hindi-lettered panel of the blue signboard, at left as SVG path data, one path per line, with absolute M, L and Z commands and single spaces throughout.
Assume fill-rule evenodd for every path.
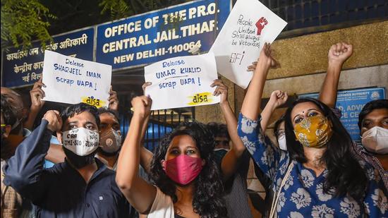
M 32 85 L 42 76 L 44 50 L 59 52 L 80 59 L 93 59 L 94 28 L 77 30 L 53 37 L 54 43 L 42 48 L 40 42 L 32 48 L 20 50 L 8 48 L 2 52 L 2 80 L 5 87 Z

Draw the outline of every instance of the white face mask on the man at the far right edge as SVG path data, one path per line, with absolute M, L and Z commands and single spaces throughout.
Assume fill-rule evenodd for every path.
M 375 126 L 365 131 L 361 138 L 366 150 L 379 155 L 388 154 L 388 129 Z

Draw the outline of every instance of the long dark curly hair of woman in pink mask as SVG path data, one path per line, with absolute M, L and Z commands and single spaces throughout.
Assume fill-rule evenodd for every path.
M 214 138 L 204 124 L 198 122 L 183 123 L 171 133 L 164 136 L 154 152 L 151 162 L 150 178 L 154 184 L 169 195 L 173 202 L 176 197 L 176 183 L 162 169 L 161 161 L 165 159 L 171 140 L 178 135 L 190 135 L 198 147 L 200 156 L 205 160 L 202 171 L 194 180 L 193 208 L 200 217 L 226 217 L 226 207 L 222 199 L 223 186 L 217 164 L 214 162 Z

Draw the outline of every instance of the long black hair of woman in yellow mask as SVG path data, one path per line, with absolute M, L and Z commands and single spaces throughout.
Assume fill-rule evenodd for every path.
M 322 111 L 322 114 L 332 124 L 332 138 L 327 143 L 327 150 L 320 159 L 322 162 L 325 162 L 328 170 L 323 190 L 325 193 L 333 194 L 336 197 L 343 197 L 348 194 L 354 199 L 363 198 L 368 178 L 358 161 L 351 155 L 351 146 L 353 146 L 351 136 L 344 126 L 342 126 L 341 121 L 339 121 L 339 118 L 334 114 L 332 109 L 317 99 L 298 99 L 286 111 L 286 141 L 287 150 L 289 151 L 291 159 L 295 159 L 301 163 L 307 162 L 305 153 L 303 152 L 303 145 L 296 140 L 291 121 L 293 107 L 302 102 L 316 104 L 320 111 Z

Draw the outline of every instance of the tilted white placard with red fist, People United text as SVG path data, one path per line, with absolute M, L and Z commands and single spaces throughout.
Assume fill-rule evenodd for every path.
M 246 68 L 257 60 L 264 43 L 274 42 L 286 25 L 260 1 L 238 0 L 210 49 L 216 56 L 218 72 L 248 87 L 253 73 Z

